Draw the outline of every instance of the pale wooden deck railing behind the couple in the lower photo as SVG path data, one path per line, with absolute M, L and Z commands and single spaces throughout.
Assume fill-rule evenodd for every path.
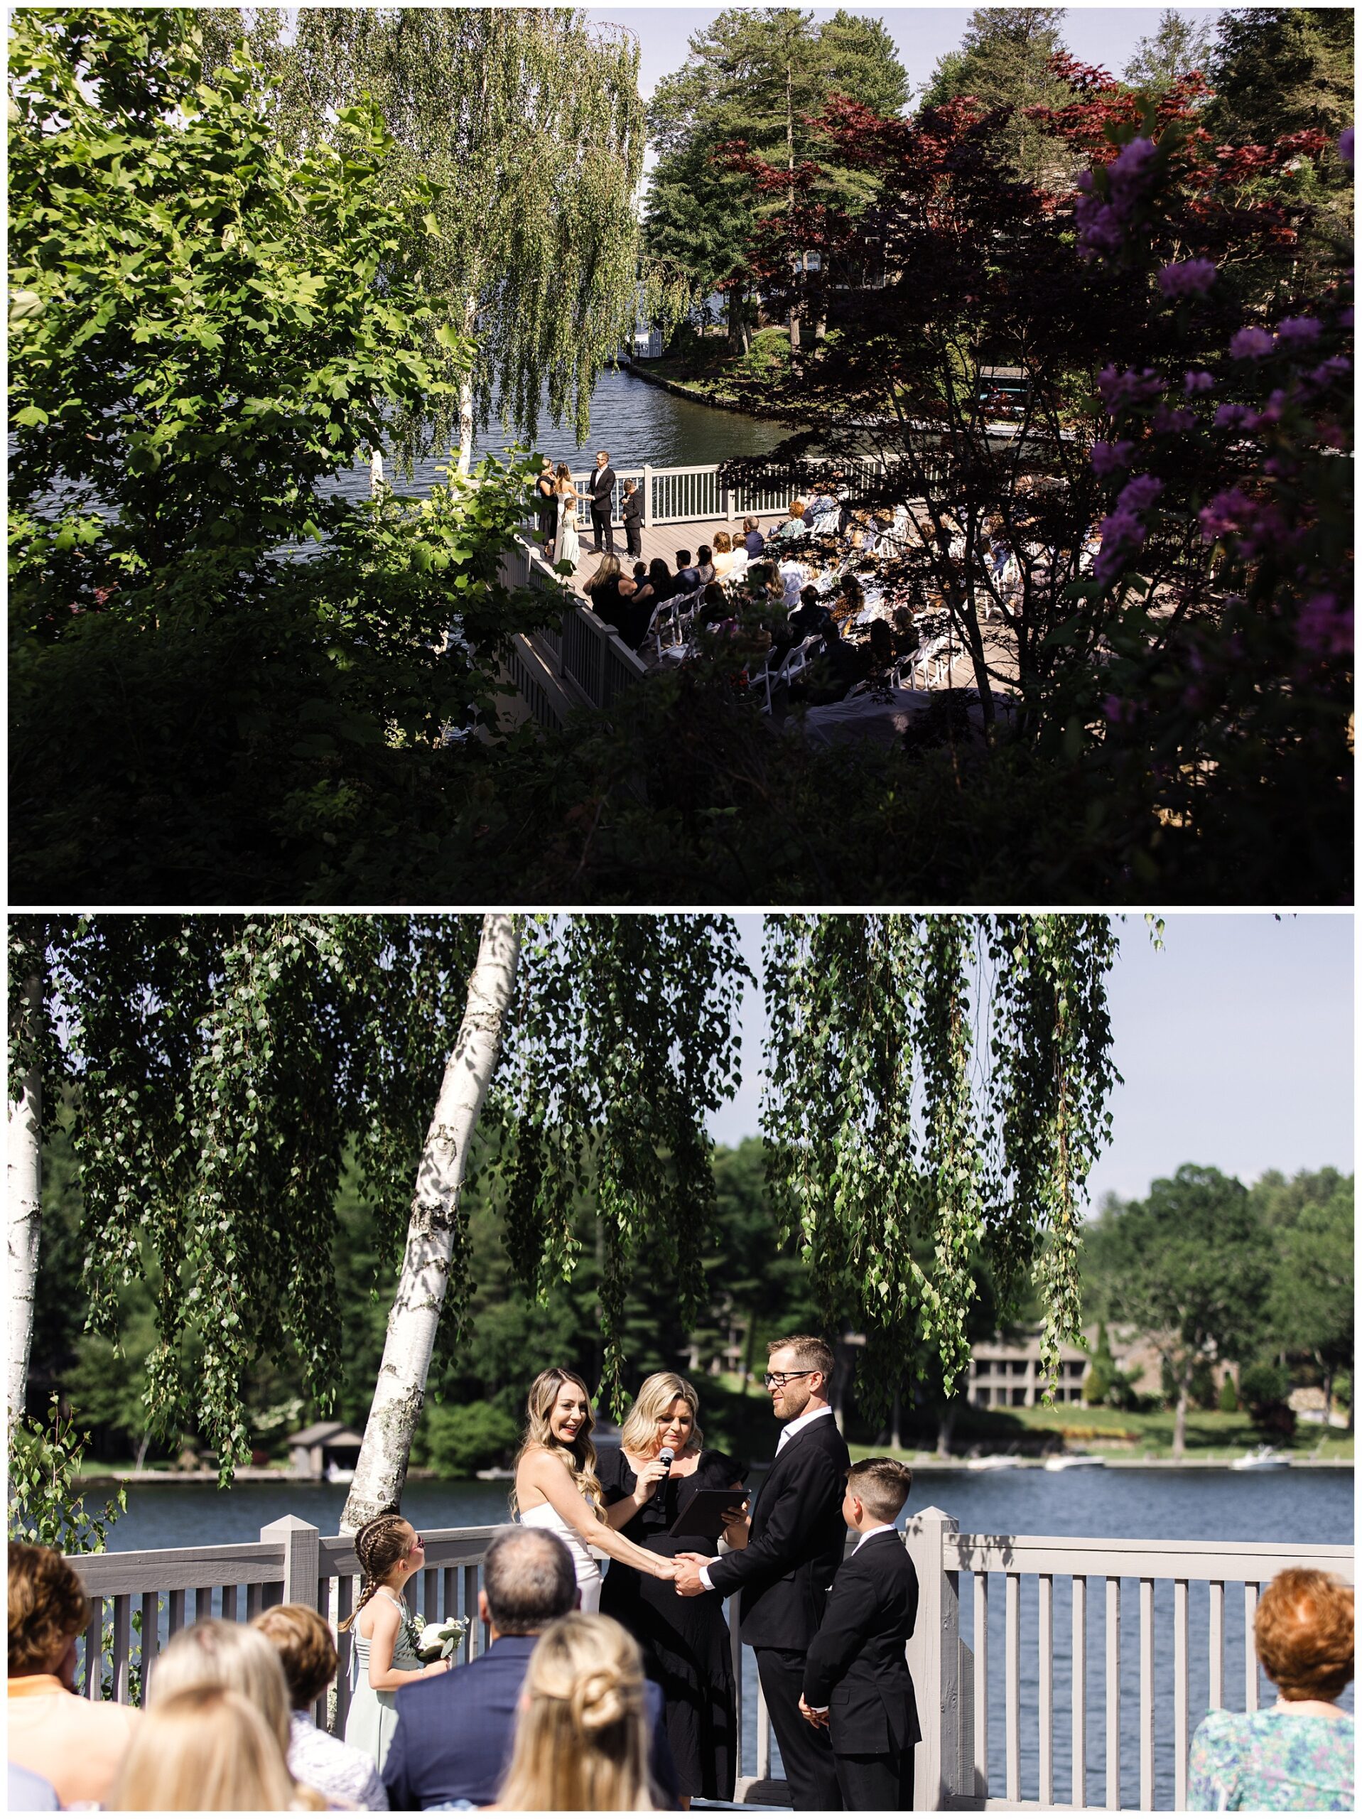
M 426 1568 L 413 1583 L 411 1603 L 427 1621 L 476 1619 L 482 1559 L 495 1533 L 495 1528 L 424 1530 Z M 1226 1704 L 1247 1712 L 1258 1706 L 1253 1655 L 1258 1590 L 1284 1566 L 1318 1566 L 1353 1579 L 1347 1546 L 962 1535 L 942 1510 L 913 1517 L 906 1544 L 920 1584 L 916 1630 L 907 1646 L 924 1732 L 915 1806 L 927 1812 L 1086 1806 L 1089 1774 L 1104 1795 L 1093 1803 L 1098 1808 L 1120 1810 L 1138 1786 L 1140 1808 L 1151 1810 L 1160 1804 L 1160 1784 L 1171 1795 L 1162 1806 L 1184 1808 L 1195 1715 Z M 347 1617 L 358 1573 L 349 1537 L 322 1535 L 296 1515 L 262 1528 L 258 1543 L 84 1553 L 73 1564 L 93 1601 L 78 1684 L 87 1697 L 100 1699 L 107 1683 L 120 1703 L 127 1703 L 135 1673 L 142 1684 L 155 1673 L 156 1653 L 185 1623 L 207 1615 L 247 1621 L 276 1603 Z M 1202 1590 L 1206 1597 L 1195 1597 Z M 1122 1646 L 1122 1615 L 1129 1621 L 1131 1604 L 1135 1650 Z M 1064 1626 L 1057 1626 L 1057 1606 L 1069 1612 L 1067 1643 L 1058 1648 L 1057 1628 L 1064 1635 Z M 1157 1623 L 1169 1626 L 1171 1663 L 1169 1650 L 1155 1646 Z M 771 1726 L 760 1686 L 753 1688 L 751 1655 L 736 1641 L 733 1601 L 729 1624 L 742 1799 L 753 1781 L 771 1774 Z M 1024 1628 L 1031 1632 L 1026 1653 Z M 1100 1628 L 1098 1648 L 1091 1646 L 1095 1628 Z M 335 1713 L 327 1713 L 322 1699 L 316 1721 L 344 1732 L 349 1633 L 338 1644 Z M 486 1646 L 484 1628 L 473 1621 L 462 1644 L 464 1661 Z M 1193 1686 L 1204 1695 L 1197 1706 Z M 755 1757 L 742 1741 L 742 1701 L 753 1692 Z M 1097 1719 L 1104 1735 L 1102 1761 L 1095 1764 L 1089 1730 Z M 1057 1735 L 1067 1759 L 1069 1799 L 1060 1803 Z M 1122 1744 L 1126 1761 L 1137 1764 L 1133 1779 L 1122 1766 Z M 1002 1775 L 995 1775 L 995 1759 Z M 1157 1774 L 1158 1761 L 1164 1768 Z M 1024 1788 L 1024 1779 L 1033 1786 Z

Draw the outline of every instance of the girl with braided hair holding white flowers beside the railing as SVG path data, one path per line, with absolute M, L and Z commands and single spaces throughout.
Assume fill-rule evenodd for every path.
M 355 1537 L 355 1557 L 364 1573 L 360 1603 L 342 1630 L 355 1626 L 355 1695 L 346 1717 L 346 1743 L 367 1750 L 382 1770 L 396 1730 L 396 1692 L 415 1681 L 447 1673 L 451 1661 L 422 1666 L 415 1621 L 402 1592 L 426 1564 L 420 1535 L 396 1510 L 376 1515 Z M 269 1644 L 265 1644 L 269 1646 Z

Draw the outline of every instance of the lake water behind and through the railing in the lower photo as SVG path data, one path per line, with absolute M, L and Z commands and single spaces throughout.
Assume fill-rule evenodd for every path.
M 753 1473 L 760 1484 L 760 1475 Z M 418 1528 L 458 1528 L 498 1523 L 507 1515 L 507 1484 L 415 1481 L 402 1508 Z M 95 1499 L 96 1501 L 96 1499 Z M 342 1486 L 329 1484 L 240 1484 L 229 1492 L 213 1486 L 133 1486 L 127 1515 L 111 1533 L 115 1550 L 173 1548 L 205 1541 L 256 1541 L 260 1528 L 280 1515 L 300 1515 L 322 1533 L 336 1533 L 346 1501 Z M 1338 1470 L 1291 1470 L 1231 1473 L 1197 1468 L 1071 1470 L 1071 1472 L 960 1472 L 915 1473 L 913 1510 L 936 1506 L 953 1515 L 962 1532 L 1016 1535 L 1122 1535 L 1144 1541 L 1287 1541 L 1298 1544 L 1351 1544 L 1353 1473 Z M 1169 1559 L 1177 1548 L 1169 1546 Z M 1055 1635 L 1055 1799 L 1069 1801 L 1069 1581 L 1057 1579 Z M 1191 1723 L 1207 1704 L 1207 1592 L 1191 1588 Z M 1104 1803 L 1106 1661 L 1104 1597 L 1093 1583 L 1087 1597 L 1087 1799 Z M 960 1588 L 960 1633 L 973 1637 L 973 1588 Z M 989 1597 L 989 1784 L 1002 1795 L 1004 1779 L 1004 1597 L 993 1581 Z M 1244 1604 L 1235 1588 L 1226 1592 L 1226 1704 L 1244 1708 Z M 1037 1581 L 1022 1581 L 1022 1797 L 1038 1795 L 1038 1613 Z M 1138 1804 L 1138 1586 L 1122 1583 L 1122 1697 L 1120 1757 L 1122 1806 Z M 746 1652 L 744 1684 L 755 1690 L 755 1661 Z M 1155 1794 L 1160 1808 L 1173 1804 L 1173 1588 L 1157 1586 L 1155 1597 Z M 1258 1697 L 1271 1704 L 1275 1693 L 1260 1679 Z M 1344 1704 L 1351 1710 L 1351 1688 Z M 744 1699 L 744 1764 L 753 1772 L 756 1750 L 755 1697 Z M 778 1752 L 775 1752 L 778 1772 Z

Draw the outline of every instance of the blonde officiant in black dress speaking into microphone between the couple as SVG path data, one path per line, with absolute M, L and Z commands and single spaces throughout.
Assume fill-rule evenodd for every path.
M 713 1539 L 669 1533 L 698 1490 L 733 1490 L 736 1521 L 727 1524 L 724 1539 L 731 1548 L 747 1543 L 742 1470 L 726 1453 L 702 1446 L 698 1412 L 695 1388 L 684 1377 L 656 1372 L 626 1417 L 620 1446 L 598 1452 L 606 1521 L 651 1553 L 713 1552 Z M 669 1462 L 662 1459 L 667 1450 Z M 600 1608 L 638 1641 L 644 1672 L 662 1686 L 667 1741 L 687 1804 L 693 1795 L 731 1801 L 736 1697 L 724 1599 L 716 1592 L 680 1599 L 669 1581 L 646 1579 L 611 1561 Z

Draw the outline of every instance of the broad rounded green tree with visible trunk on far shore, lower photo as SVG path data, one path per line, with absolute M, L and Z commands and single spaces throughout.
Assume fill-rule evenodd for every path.
M 1262 1333 L 1271 1250 L 1247 1190 L 1184 1162 L 1147 1199 L 1107 1208 L 1087 1237 L 1104 1317 L 1146 1335 L 1169 1373 L 1180 1459 L 1197 1372 L 1251 1357 Z

